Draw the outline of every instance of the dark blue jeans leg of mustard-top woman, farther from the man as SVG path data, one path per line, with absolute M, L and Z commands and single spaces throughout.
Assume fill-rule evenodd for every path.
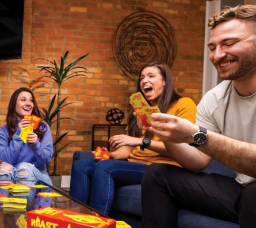
M 72 164 L 70 195 L 83 203 L 89 202 L 91 173 L 96 162 L 94 159 L 79 159 Z

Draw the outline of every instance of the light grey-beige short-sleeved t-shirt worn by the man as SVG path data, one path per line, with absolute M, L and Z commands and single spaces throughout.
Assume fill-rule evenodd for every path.
M 256 143 L 256 93 L 239 96 L 232 81 L 223 81 L 208 91 L 197 106 L 196 124 L 234 139 Z M 236 172 L 236 181 L 255 181 Z

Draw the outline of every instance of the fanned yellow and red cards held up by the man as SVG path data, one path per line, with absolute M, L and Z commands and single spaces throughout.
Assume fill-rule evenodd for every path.
M 160 109 L 158 107 L 150 106 L 140 92 L 133 93 L 130 96 L 130 103 L 133 110 L 136 112 L 136 115 L 140 118 L 145 127 L 151 126 L 151 114 L 155 112 L 160 112 Z

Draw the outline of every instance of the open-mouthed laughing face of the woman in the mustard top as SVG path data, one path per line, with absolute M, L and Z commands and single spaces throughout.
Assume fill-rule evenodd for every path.
M 140 89 L 152 105 L 158 105 L 163 87 L 165 87 L 165 79 L 156 66 L 148 66 L 142 70 L 140 74 Z

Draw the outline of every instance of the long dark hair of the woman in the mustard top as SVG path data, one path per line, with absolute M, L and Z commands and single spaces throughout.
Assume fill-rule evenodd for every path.
M 165 113 L 167 109 L 170 108 L 170 105 L 177 101 L 179 98 L 181 98 L 181 96 L 179 96 L 178 93 L 174 91 L 171 70 L 169 66 L 163 62 L 150 62 L 147 65 L 143 66 L 143 68 L 140 70 L 139 78 L 140 74 L 142 74 L 142 70 L 147 68 L 148 66 L 155 66 L 156 68 L 158 68 L 160 74 L 165 80 L 165 87 L 163 88 L 162 95 L 159 99 L 159 109 L 161 112 Z M 143 95 L 143 92 L 140 89 L 140 80 L 137 83 L 137 92 L 141 92 Z M 150 101 L 148 101 L 148 104 L 150 104 Z M 131 110 L 128 117 L 128 134 L 133 137 L 140 137 L 141 135 L 141 130 L 137 126 L 136 118 L 133 116 L 133 110 Z

